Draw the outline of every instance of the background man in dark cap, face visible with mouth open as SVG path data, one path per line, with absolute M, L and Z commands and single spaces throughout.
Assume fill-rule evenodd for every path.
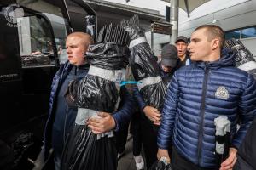
M 187 51 L 189 45 L 189 40 L 187 37 L 179 36 L 176 38 L 175 46 L 177 48 L 177 56 L 178 56 L 178 67 L 182 67 L 183 65 L 189 65 L 190 59 Z

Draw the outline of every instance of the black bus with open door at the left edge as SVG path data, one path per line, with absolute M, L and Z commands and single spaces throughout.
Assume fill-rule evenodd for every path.
M 84 11 L 76 20 L 96 16 L 83 1 L 68 3 Z M 76 27 L 74 20 L 64 0 L 0 0 L 0 169 L 33 167 L 52 78 L 67 60 L 65 39 L 85 31 L 85 22 Z

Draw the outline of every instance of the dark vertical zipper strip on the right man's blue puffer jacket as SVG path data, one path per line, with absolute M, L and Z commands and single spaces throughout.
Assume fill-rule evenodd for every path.
M 205 73 L 204 73 L 204 82 L 203 82 L 203 92 L 202 92 L 202 99 L 201 99 L 201 121 L 200 121 L 200 131 L 199 131 L 199 139 L 198 139 L 198 165 L 200 166 L 201 164 L 201 144 L 202 144 L 202 138 L 203 138 L 203 127 L 204 127 L 204 119 L 205 119 L 205 110 L 206 110 L 206 94 L 207 94 L 207 79 L 208 79 L 208 73 L 209 69 L 206 67 L 205 68 Z

